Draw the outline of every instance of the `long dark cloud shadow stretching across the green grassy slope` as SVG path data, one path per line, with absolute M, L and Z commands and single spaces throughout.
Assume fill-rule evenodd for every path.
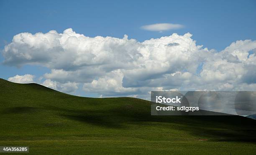
M 13 107 L 4 113 L 19 114 L 36 112 L 35 107 Z M 120 105 L 108 110 L 67 109 L 44 106 L 40 111 L 48 111 L 61 117 L 100 127 L 128 129 L 128 124 L 168 128 L 185 131 L 198 138 L 211 136 L 214 141 L 256 142 L 256 121 L 240 116 L 151 116 L 150 107 Z M 154 123 L 154 124 L 152 124 Z M 167 124 L 163 124 L 167 123 Z M 55 126 L 49 124 L 49 126 Z

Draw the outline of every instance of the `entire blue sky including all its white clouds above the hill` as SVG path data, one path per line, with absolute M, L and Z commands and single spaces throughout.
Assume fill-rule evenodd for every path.
M 87 97 L 256 90 L 255 0 L 1 0 L 0 19 L 9 81 Z

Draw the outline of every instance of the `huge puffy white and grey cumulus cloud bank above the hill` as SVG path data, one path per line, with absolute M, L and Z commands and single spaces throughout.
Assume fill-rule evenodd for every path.
M 135 39 L 94 38 L 71 28 L 57 33 L 20 33 L 6 45 L 4 64 L 51 69 L 43 84 L 53 89 L 105 96 L 149 97 L 153 90 L 256 90 L 256 41 L 223 51 L 197 45 L 192 34 Z

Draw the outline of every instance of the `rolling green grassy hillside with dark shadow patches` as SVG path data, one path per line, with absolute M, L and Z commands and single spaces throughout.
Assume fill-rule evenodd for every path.
M 86 98 L 0 79 L 0 146 L 31 154 L 254 154 L 256 120 L 151 116 L 150 102 Z

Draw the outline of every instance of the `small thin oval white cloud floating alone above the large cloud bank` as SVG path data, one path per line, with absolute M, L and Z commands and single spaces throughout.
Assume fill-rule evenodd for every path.
M 157 23 L 157 24 L 151 24 L 151 25 L 143 25 L 141 26 L 144 30 L 150 30 L 150 31 L 165 31 L 165 30 L 173 30 L 173 29 L 179 29 L 183 28 L 183 25 L 180 24 L 171 24 L 171 23 Z

